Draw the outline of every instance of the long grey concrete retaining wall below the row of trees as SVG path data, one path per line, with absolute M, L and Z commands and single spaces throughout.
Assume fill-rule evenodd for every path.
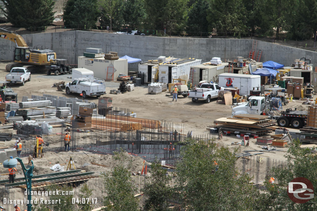
M 177 58 L 193 57 L 209 61 L 212 57 L 236 59 L 247 58 L 252 48 L 250 39 L 209 39 L 209 38 L 170 38 L 151 37 L 102 32 L 66 31 L 42 34 L 23 34 L 27 44 L 55 50 L 58 58 L 68 59 L 70 64 L 77 64 L 77 57 L 82 56 L 87 47 L 102 48 L 104 52 L 115 51 L 119 56 L 129 55 L 143 61 L 156 59 L 158 56 Z M 0 40 L 0 59 L 12 59 L 15 44 Z M 261 61 L 273 60 L 291 65 L 295 59 L 311 58 L 317 65 L 317 53 L 294 47 L 258 41 L 257 50 L 263 51 Z M 137 65 L 129 65 L 129 70 L 136 70 Z

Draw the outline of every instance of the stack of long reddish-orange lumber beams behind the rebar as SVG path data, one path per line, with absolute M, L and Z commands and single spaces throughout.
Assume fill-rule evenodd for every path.
M 92 118 L 92 127 L 96 127 L 102 130 L 112 131 L 130 131 L 141 130 L 142 125 L 136 122 L 129 122 L 118 119 L 96 119 Z

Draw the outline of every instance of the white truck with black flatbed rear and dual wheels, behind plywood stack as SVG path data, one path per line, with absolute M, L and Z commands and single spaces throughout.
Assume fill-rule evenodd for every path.
M 276 99 L 277 98 L 271 98 L 270 96 L 251 96 L 249 97 L 249 102 L 239 103 L 240 105 L 234 106 L 231 115 L 269 115 L 271 119 L 276 120 L 280 127 L 288 127 L 291 125 L 291 127 L 298 129 L 306 125 L 307 111 L 286 109 L 286 111 L 281 111 L 280 115 L 275 115 L 273 110 L 276 110 L 274 104 Z M 278 103 L 281 104 L 280 102 Z

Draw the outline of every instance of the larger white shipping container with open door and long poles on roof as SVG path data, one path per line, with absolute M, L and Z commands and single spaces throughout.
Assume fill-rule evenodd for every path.
M 193 61 L 184 62 L 182 64 L 162 64 L 159 65 L 159 82 L 172 83 L 173 79 L 177 79 L 180 76 L 187 75 L 187 81 L 191 71 L 191 66 L 201 64 L 201 59 L 195 59 Z

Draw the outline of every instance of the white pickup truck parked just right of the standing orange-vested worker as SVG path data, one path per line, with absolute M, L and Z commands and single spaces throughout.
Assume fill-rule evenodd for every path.
M 191 97 L 192 102 L 198 100 L 204 100 L 206 103 L 210 102 L 210 99 L 217 98 L 220 89 L 224 89 L 215 83 L 203 83 L 199 88 L 188 92 L 188 97 Z

